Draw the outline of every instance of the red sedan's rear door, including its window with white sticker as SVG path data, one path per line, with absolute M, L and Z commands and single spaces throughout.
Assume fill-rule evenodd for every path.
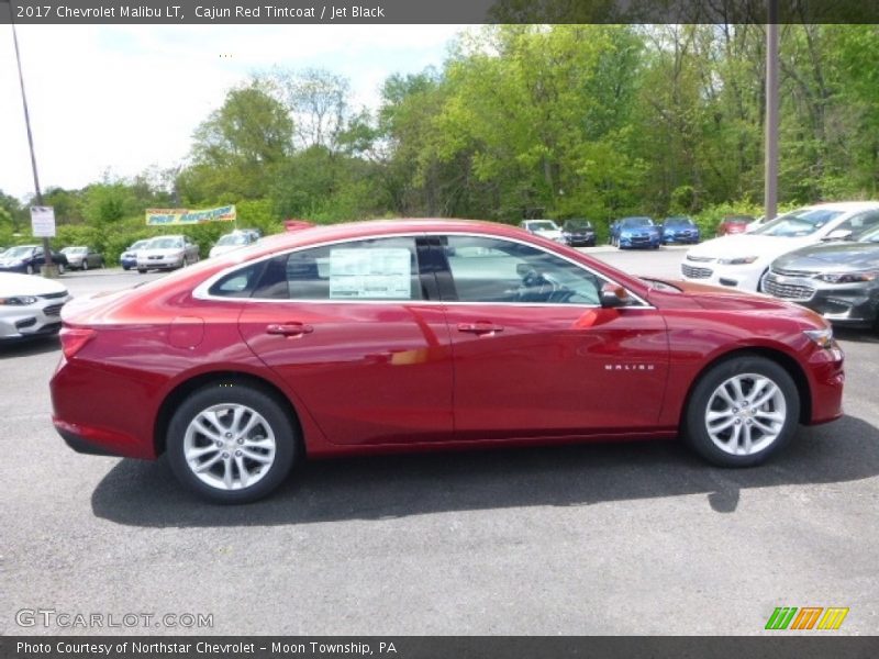
M 238 324 L 330 442 L 447 439 L 449 336 L 432 287 L 413 237 L 313 247 L 267 264 Z

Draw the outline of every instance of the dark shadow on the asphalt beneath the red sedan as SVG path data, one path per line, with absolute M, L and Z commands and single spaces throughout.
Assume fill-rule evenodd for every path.
M 794 442 L 753 469 L 717 469 L 681 443 L 449 451 L 310 461 L 268 499 L 203 503 L 177 484 L 166 461 L 121 460 L 99 483 L 94 514 L 152 527 L 266 526 L 379 520 L 437 512 L 705 494 L 719 513 L 749 488 L 859 480 L 879 473 L 879 431 L 852 416 L 800 428 Z

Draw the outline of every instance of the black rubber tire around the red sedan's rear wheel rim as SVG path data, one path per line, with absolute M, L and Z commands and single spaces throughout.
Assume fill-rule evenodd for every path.
M 251 433 L 259 433 L 262 429 L 263 432 L 274 435 L 274 461 L 265 468 L 266 470 L 263 471 L 258 462 L 251 460 L 251 467 L 257 471 L 249 474 L 249 478 L 254 478 L 255 476 L 258 478 L 252 485 L 237 489 L 223 489 L 219 484 L 209 484 L 200 477 L 196 476 L 186 459 L 185 446 L 187 442 L 187 428 L 200 413 L 215 405 L 237 405 L 256 412 L 262 416 L 265 424 L 260 422 Z M 198 433 L 196 433 L 196 435 L 198 435 Z M 230 454 L 229 459 L 234 460 L 235 458 L 231 454 L 234 453 L 237 445 L 233 443 L 234 437 L 232 437 L 231 433 L 224 435 L 224 437 L 229 437 L 227 440 L 230 442 L 231 448 L 226 448 L 226 451 Z M 198 437 L 198 440 L 202 442 L 205 448 L 213 446 L 213 442 L 208 438 L 207 435 Z M 221 451 L 222 449 L 218 449 L 214 455 L 226 455 L 226 451 Z M 288 411 L 276 396 L 268 391 L 249 384 L 240 384 L 234 381 L 218 381 L 197 390 L 177 409 L 168 425 L 167 453 L 168 461 L 177 479 L 187 489 L 202 499 L 222 504 L 251 503 L 269 494 L 280 485 L 290 473 L 290 469 L 299 455 L 299 435 Z M 243 459 L 246 460 L 246 456 Z M 220 471 L 225 469 L 221 461 L 218 461 L 215 467 Z M 235 469 L 231 466 L 229 469 L 232 470 L 233 473 L 235 472 Z M 213 468 L 205 471 L 205 478 L 221 478 L 220 474 L 214 472 L 215 470 Z M 241 472 L 238 471 L 238 473 Z M 238 484 L 241 484 L 240 481 Z

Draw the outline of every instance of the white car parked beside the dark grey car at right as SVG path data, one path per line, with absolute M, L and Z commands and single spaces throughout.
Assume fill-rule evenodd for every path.
M 822 241 L 845 239 L 879 223 L 879 202 L 821 203 L 779 215 L 752 233 L 706 241 L 687 252 L 683 279 L 760 291 L 769 264 L 788 252 Z

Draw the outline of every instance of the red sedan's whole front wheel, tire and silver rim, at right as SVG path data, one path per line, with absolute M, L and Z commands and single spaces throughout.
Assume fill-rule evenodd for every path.
M 800 417 L 797 386 L 781 366 L 757 356 L 708 371 L 687 405 L 683 435 L 721 467 L 749 467 L 790 442 Z

